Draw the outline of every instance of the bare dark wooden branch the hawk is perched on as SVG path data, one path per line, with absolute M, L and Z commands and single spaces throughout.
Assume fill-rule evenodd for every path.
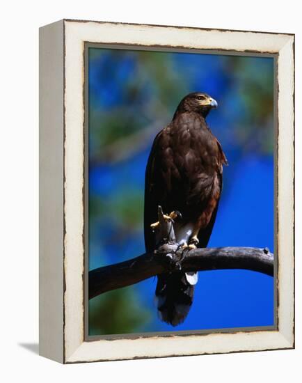
M 102 292 L 134 285 L 164 272 L 248 269 L 273 276 L 273 254 L 257 247 L 216 247 L 177 251 L 175 244 L 165 244 L 154 253 L 145 253 L 122 263 L 89 272 L 89 299 Z M 183 259 L 182 259 L 183 257 Z

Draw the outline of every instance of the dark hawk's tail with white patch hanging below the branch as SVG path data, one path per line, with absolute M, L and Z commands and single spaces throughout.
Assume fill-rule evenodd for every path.
M 193 302 L 197 281 L 197 272 L 173 272 L 157 276 L 155 298 L 161 320 L 172 326 L 184 322 Z

